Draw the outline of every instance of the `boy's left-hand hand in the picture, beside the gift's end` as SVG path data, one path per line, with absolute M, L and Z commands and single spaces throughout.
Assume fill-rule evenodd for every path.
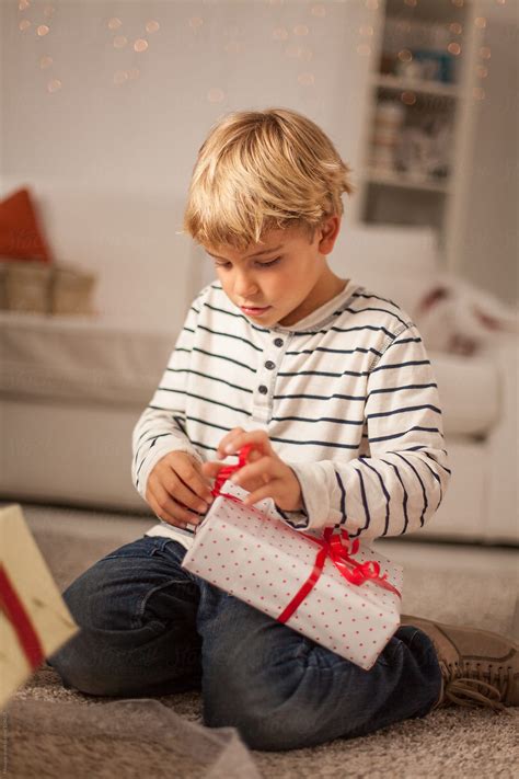
M 194 512 L 205 514 L 214 499 L 200 463 L 184 451 L 169 451 L 148 477 L 146 500 L 160 519 L 185 528 L 198 525 Z

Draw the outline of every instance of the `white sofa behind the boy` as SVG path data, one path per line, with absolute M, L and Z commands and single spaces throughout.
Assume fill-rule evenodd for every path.
M 97 272 L 99 314 L 0 313 L 0 499 L 152 519 L 130 481 L 131 431 L 193 294 L 210 277 L 208 262 L 175 236 L 182 204 L 165 195 L 51 184 L 36 195 L 58 260 Z M 423 228 L 344 226 L 332 257 L 344 277 L 407 312 L 437 263 L 434 234 Z M 429 357 L 453 476 L 436 517 L 414 536 L 517 543 L 517 344 Z

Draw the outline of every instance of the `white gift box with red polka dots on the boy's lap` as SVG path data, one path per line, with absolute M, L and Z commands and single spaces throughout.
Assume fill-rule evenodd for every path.
M 229 484 L 228 484 L 229 485 Z M 369 671 L 400 626 L 403 569 L 345 530 L 295 530 L 272 501 L 215 500 L 182 566 Z

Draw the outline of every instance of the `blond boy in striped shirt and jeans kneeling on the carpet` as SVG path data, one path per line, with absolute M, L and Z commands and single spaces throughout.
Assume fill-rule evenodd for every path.
M 258 749 L 361 735 L 454 700 L 518 704 L 517 646 L 500 635 L 403 616 L 366 672 L 181 566 L 211 479 L 246 444 L 246 502 L 272 499 L 296 531 L 332 525 L 368 542 L 422 527 L 442 500 L 450 470 L 419 333 L 327 265 L 348 174 L 327 136 L 287 110 L 230 114 L 200 148 L 184 228 L 218 282 L 195 299 L 132 436 L 134 483 L 161 522 L 65 593 L 83 628 L 54 657 L 66 684 L 199 686 L 205 724 Z

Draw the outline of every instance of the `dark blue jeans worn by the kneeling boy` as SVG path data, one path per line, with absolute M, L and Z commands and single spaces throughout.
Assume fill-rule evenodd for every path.
M 81 628 L 49 658 L 99 696 L 201 689 L 203 722 L 254 749 L 314 746 L 424 717 L 440 695 L 430 639 L 402 626 L 364 671 L 181 568 L 164 537 L 111 552 L 64 593 Z

